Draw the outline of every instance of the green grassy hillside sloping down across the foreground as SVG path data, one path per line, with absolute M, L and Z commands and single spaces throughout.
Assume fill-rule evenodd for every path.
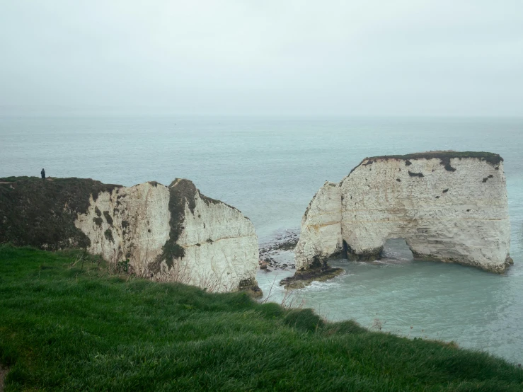
M 6 391 L 523 389 L 523 370 L 489 354 L 12 246 L 0 246 L 0 363 Z

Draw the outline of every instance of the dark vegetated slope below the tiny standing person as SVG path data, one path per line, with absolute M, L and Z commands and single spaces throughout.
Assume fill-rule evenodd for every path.
M 6 181 L 8 180 L 8 181 Z M 57 250 L 86 248 L 89 238 L 74 226 L 86 214 L 89 198 L 121 185 L 90 178 L 9 177 L 0 182 L 0 243 Z

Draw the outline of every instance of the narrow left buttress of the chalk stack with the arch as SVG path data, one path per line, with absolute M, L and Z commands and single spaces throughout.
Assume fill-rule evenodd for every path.
M 294 248 L 296 268 L 323 264 L 341 250 L 341 190 L 338 184 L 326 181 L 301 219 L 301 233 Z

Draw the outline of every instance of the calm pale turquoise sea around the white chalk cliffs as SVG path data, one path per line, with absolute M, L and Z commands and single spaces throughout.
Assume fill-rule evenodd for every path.
M 241 209 L 260 242 L 299 229 L 325 180 L 365 156 L 427 150 L 492 151 L 505 158 L 514 265 L 506 275 L 414 262 L 335 261 L 347 273 L 294 294 L 330 320 L 410 337 L 454 340 L 523 362 L 523 119 L 256 117 L 0 117 L 0 177 L 47 175 L 134 185 L 189 178 Z M 291 258 L 288 253 L 283 257 Z M 290 272 L 260 272 L 265 293 Z M 272 289 L 271 299 L 282 293 Z

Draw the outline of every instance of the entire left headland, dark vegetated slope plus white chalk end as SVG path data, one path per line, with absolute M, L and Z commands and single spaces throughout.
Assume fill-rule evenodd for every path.
M 190 180 L 132 187 L 81 178 L 0 178 L 0 242 L 86 248 L 139 276 L 212 292 L 261 291 L 258 237 L 238 209 Z

